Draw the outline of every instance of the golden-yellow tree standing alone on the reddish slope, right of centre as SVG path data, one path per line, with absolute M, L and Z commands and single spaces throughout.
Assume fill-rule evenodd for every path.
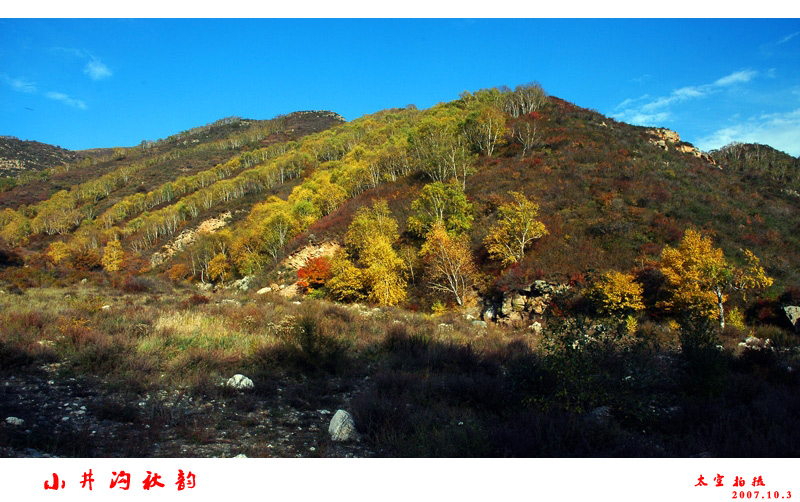
M 544 223 L 536 219 L 539 204 L 519 192 L 509 192 L 509 195 L 513 200 L 500 206 L 500 219 L 483 240 L 489 256 L 504 266 L 520 261 L 525 256 L 525 248 L 548 233 Z

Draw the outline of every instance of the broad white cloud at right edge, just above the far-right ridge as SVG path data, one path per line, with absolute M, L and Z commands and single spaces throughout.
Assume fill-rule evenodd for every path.
M 800 108 L 786 113 L 750 117 L 698 139 L 696 145 L 701 150 L 707 151 L 734 141 L 761 143 L 797 157 L 800 156 L 798 138 L 800 138 Z

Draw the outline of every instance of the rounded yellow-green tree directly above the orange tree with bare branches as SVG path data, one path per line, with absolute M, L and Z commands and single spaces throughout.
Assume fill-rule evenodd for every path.
M 454 234 L 469 232 L 472 227 L 472 204 L 455 183 L 425 185 L 420 196 L 411 203 L 411 210 L 414 214 L 408 218 L 408 229 L 420 237 L 436 223 L 443 224 Z

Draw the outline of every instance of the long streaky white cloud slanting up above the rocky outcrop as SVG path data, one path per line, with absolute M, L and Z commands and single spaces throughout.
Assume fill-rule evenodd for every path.
M 652 97 L 645 94 L 639 98 L 628 98 L 618 104 L 612 116 L 638 125 L 659 125 L 672 118 L 673 105 L 693 99 L 705 98 L 715 92 L 736 84 L 747 83 L 759 73 L 755 70 L 739 70 L 725 75 L 713 83 L 686 86 L 672 91 L 669 96 Z

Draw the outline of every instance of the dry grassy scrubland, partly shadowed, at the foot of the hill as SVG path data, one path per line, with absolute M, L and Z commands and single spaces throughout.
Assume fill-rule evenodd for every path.
M 642 320 L 628 333 L 610 319 L 543 321 L 534 334 L 455 312 L 155 282 L 136 294 L 90 284 L 6 293 L 0 414 L 34 425 L 3 424 L 0 448 L 14 456 L 800 453 L 796 335 L 760 328 L 752 334 L 771 337 L 772 348 L 758 349 L 743 347 L 751 333 L 736 328 Z M 255 388 L 221 385 L 234 374 Z M 65 409 L 37 417 L 16 401 L 26 393 L 72 399 L 85 412 L 63 423 Z M 358 442 L 327 438 L 338 408 L 354 415 Z

